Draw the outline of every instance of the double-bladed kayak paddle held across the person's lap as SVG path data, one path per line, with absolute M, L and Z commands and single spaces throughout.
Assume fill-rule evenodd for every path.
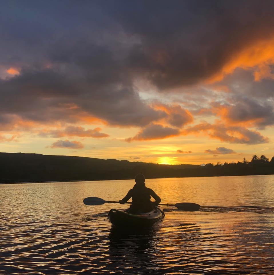
M 84 199 L 85 205 L 102 205 L 105 203 L 119 203 L 119 202 L 105 201 L 97 197 L 89 197 Z M 131 204 L 131 202 L 126 202 L 126 203 Z M 200 209 L 200 205 L 198 205 L 197 203 L 175 203 L 175 204 L 159 203 L 159 205 L 177 207 L 178 209 L 184 210 L 184 211 L 198 211 Z

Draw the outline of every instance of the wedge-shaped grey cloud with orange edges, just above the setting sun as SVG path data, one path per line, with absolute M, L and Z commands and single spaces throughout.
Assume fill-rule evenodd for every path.
M 146 128 L 142 129 L 134 137 L 125 139 L 126 142 L 132 142 L 134 140 L 158 140 L 168 137 L 174 137 L 180 134 L 178 129 L 164 127 L 159 124 L 150 124 Z

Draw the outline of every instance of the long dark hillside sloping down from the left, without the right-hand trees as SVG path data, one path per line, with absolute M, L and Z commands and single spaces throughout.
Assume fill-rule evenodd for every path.
M 103 160 L 74 156 L 0 153 L 0 183 L 65 180 L 111 180 L 134 178 L 142 172 L 147 178 L 180 175 L 184 168 L 199 165 L 160 165 L 127 160 Z M 177 170 L 176 172 L 174 170 Z

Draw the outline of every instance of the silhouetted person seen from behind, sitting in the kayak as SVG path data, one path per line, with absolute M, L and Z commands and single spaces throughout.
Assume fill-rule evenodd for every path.
M 143 174 L 138 174 L 135 177 L 135 182 L 136 184 L 133 188 L 128 191 L 126 197 L 120 200 L 119 203 L 124 204 L 132 198 L 132 204 L 129 208 L 130 213 L 145 213 L 151 211 L 154 206 L 161 202 L 160 197 L 157 196 L 152 189 L 146 187 L 145 176 Z M 150 201 L 150 196 L 155 199 L 154 202 Z

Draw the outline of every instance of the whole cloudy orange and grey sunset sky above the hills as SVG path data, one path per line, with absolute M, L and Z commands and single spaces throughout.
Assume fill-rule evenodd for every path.
M 1 152 L 274 156 L 274 1 L 3 1 Z

